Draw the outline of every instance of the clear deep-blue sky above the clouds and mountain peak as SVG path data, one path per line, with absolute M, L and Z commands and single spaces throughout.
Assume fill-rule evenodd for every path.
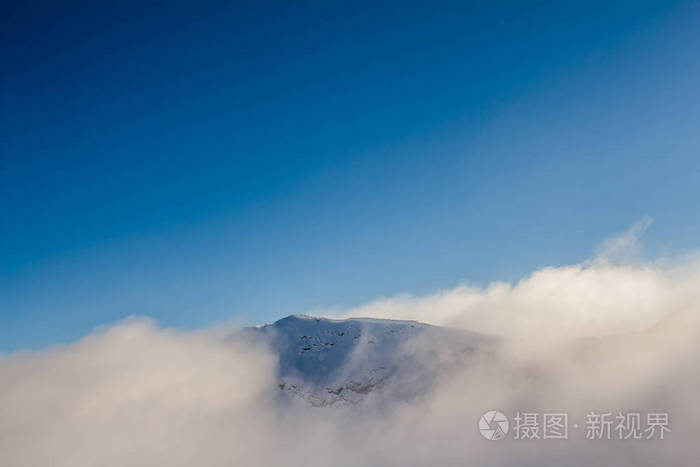
M 0 351 L 698 246 L 697 4 L 15 3 Z

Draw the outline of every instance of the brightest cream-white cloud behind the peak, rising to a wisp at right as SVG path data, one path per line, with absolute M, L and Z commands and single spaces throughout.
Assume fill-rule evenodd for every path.
M 332 316 L 415 319 L 488 334 L 537 339 L 601 336 L 647 329 L 700 305 L 700 262 L 644 262 L 643 219 L 580 264 L 547 267 L 516 284 L 461 285 L 435 294 L 373 301 Z

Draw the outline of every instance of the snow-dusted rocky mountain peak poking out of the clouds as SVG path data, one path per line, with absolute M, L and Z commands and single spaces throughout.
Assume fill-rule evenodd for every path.
M 301 398 L 317 407 L 420 397 L 445 367 L 464 364 L 494 342 L 416 321 L 305 315 L 247 328 L 244 334 L 264 340 L 277 354 L 280 398 Z

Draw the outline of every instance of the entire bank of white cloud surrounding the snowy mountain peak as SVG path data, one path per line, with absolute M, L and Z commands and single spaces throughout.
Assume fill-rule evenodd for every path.
M 630 238 L 609 244 L 629 251 Z M 0 467 L 694 466 L 700 268 L 619 263 L 604 250 L 516 285 L 348 311 L 508 336 L 496 355 L 445 371 L 425 397 L 395 407 L 282 408 L 266 349 L 148 319 L 2 357 Z M 611 335 L 620 332 L 629 334 Z M 608 337 L 574 339 L 582 335 Z M 543 349 L 542 337 L 557 342 Z M 672 433 L 614 442 L 585 440 L 582 427 L 568 441 L 489 442 L 476 423 L 496 408 L 566 411 L 582 425 L 590 411 L 663 411 Z

